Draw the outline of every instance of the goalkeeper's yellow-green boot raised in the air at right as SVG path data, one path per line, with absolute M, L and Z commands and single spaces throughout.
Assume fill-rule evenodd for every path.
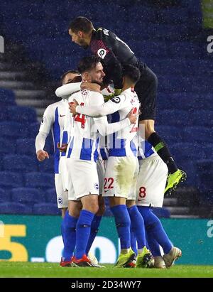
M 166 188 L 164 190 L 165 195 L 170 195 L 173 190 L 177 188 L 178 183 L 182 183 L 187 178 L 187 174 L 184 171 L 178 169 L 175 173 L 170 173 L 167 178 Z

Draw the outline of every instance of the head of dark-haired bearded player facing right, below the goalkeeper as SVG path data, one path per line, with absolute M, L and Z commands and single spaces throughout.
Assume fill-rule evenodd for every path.
M 105 73 L 103 71 L 101 58 L 97 55 L 82 58 L 77 69 L 82 75 L 83 80 L 103 85 Z

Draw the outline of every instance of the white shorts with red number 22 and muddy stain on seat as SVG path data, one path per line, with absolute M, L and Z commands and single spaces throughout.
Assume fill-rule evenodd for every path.
M 134 156 L 109 156 L 104 175 L 104 197 L 136 199 L 138 159 Z

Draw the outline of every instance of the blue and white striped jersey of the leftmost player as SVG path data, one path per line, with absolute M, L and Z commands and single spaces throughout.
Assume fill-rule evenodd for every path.
M 43 119 L 40 124 L 40 132 L 49 134 L 50 130 L 53 136 L 53 144 L 55 151 L 55 173 L 59 173 L 59 159 L 60 156 L 65 155 L 65 153 L 61 153 L 58 148 L 58 143 L 67 143 L 67 141 L 62 141 L 62 131 L 64 129 L 65 122 L 65 112 L 68 107 L 68 103 L 66 99 L 60 100 L 60 102 L 55 102 L 54 104 L 50 104 L 43 114 Z

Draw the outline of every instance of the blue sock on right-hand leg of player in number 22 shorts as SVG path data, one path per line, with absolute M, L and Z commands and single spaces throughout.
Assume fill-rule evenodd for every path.
M 144 221 L 141 213 L 136 205 L 127 209 L 131 219 L 131 227 L 133 228 L 138 242 L 138 249 L 143 249 L 146 246 L 146 233 Z

